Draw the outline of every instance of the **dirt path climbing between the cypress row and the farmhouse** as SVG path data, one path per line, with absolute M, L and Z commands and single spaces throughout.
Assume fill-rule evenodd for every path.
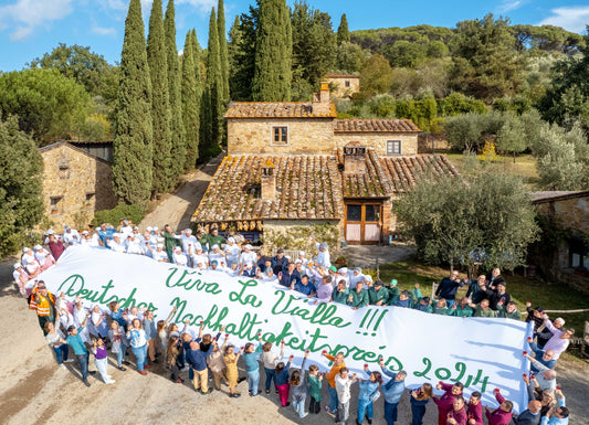
M 165 224 L 169 224 L 172 230 L 188 227 L 190 217 L 204 195 L 223 156 L 224 153 L 221 153 L 193 172 L 183 174 L 179 188 L 173 193 L 164 195 L 154 211 L 144 217 L 139 224 L 140 231 L 145 231 L 147 226 L 162 229 Z

